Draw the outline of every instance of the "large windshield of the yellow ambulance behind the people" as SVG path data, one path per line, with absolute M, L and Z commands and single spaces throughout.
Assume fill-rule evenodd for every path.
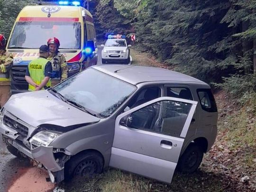
M 17 22 L 9 49 L 38 49 L 51 37 L 60 41 L 60 49 L 81 48 L 81 23 L 55 21 Z

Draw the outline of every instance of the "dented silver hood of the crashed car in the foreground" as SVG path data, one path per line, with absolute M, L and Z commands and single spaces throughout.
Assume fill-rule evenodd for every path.
M 34 127 L 42 124 L 66 127 L 100 121 L 100 118 L 73 107 L 46 90 L 12 95 L 4 108 Z

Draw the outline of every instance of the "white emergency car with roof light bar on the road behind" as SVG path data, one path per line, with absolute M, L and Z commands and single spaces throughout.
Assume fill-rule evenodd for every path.
M 112 36 L 112 35 L 111 35 Z M 116 37 L 117 35 L 113 35 Z M 119 37 L 119 36 L 118 36 Z M 101 45 L 103 50 L 101 52 L 102 64 L 107 62 L 122 62 L 128 64 L 130 62 L 130 50 L 131 45 L 127 45 L 125 39 L 114 38 L 108 39 L 104 45 Z

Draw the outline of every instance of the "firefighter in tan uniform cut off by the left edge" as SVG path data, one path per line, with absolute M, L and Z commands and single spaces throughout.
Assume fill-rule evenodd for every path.
M 10 98 L 10 70 L 13 64 L 13 56 L 5 50 L 5 37 L 0 34 L 0 107 L 2 108 Z

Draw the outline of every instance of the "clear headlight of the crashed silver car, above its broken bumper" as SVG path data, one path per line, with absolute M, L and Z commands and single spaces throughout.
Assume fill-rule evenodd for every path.
M 36 146 L 48 146 L 60 133 L 50 131 L 40 131 L 35 134 L 29 142 Z

